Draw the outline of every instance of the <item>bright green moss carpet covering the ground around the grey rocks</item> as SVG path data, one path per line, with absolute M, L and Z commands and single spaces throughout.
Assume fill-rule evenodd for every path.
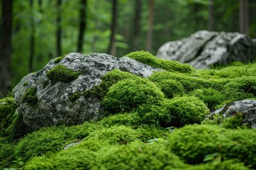
M 29 132 L 14 98 L 1 99 L 0 169 L 256 169 L 256 130 L 242 114 L 206 119 L 225 103 L 256 98 L 256 64 L 196 70 L 149 52 L 127 57 L 163 70 L 142 78 L 113 69 L 70 94 L 100 98 L 100 120 Z M 71 73 L 68 81 L 79 74 Z

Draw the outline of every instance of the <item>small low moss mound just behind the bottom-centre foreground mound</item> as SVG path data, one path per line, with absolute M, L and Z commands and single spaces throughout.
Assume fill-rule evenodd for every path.
M 102 128 L 93 131 L 86 139 L 87 140 L 103 140 L 110 145 L 126 144 L 132 142 L 139 137 L 139 133 L 132 128 L 124 125 L 114 125 L 111 128 Z

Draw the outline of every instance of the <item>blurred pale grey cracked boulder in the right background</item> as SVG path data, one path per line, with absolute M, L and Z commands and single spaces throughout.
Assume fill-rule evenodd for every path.
M 156 57 L 188 63 L 196 69 L 209 69 L 216 64 L 252 62 L 256 49 L 247 35 L 199 30 L 188 38 L 166 42 Z

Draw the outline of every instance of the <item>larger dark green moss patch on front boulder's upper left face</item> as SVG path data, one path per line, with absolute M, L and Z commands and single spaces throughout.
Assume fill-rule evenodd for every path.
M 57 65 L 46 73 L 46 77 L 48 77 L 48 79 L 53 82 L 53 84 L 58 81 L 69 83 L 70 81 L 78 79 L 80 74 L 81 72 L 68 69 L 64 65 Z

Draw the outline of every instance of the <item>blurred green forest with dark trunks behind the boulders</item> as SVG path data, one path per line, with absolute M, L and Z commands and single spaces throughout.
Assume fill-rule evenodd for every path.
M 1 96 L 69 52 L 155 54 L 196 30 L 256 38 L 255 0 L 2 0 L 0 6 Z

